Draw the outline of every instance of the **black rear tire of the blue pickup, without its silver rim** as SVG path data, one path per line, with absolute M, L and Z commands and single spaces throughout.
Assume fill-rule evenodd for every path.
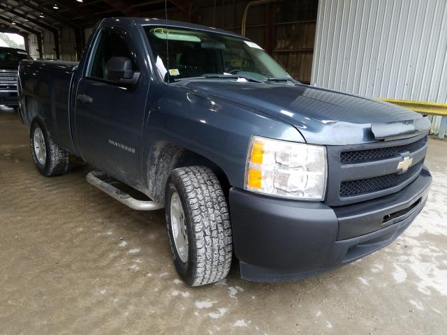
M 46 159 L 45 163 L 41 164 L 36 156 L 34 149 L 34 132 L 36 128 L 41 128 L 43 139 L 45 141 Z M 45 125 L 45 121 L 36 118 L 31 123 L 29 131 L 29 147 L 31 149 L 31 156 L 33 156 L 34 165 L 41 174 L 45 177 L 59 176 L 65 174 L 70 168 L 70 152 L 59 147 L 53 142 L 50 132 Z

